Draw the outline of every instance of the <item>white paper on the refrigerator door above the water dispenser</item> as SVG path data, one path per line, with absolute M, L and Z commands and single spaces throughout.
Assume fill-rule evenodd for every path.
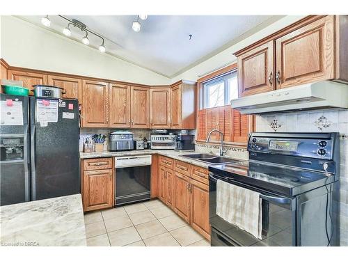
M 0 125 L 23 125 L 23 104 L 22 102 L 8 101 L 0 102 Z

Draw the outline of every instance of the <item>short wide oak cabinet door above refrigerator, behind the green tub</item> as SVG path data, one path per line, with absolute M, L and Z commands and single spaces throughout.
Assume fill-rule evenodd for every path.
M 33 85 L 47 85 L 46 74 L 8 70 L 7 76 L 10 80 L 23 81 L 23 87 L 28 88 L 29 90 L 33 90 Z

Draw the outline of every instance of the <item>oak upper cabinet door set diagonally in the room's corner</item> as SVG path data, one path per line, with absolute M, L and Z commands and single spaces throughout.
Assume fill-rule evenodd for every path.
M 152 129 L 171 128 L 171 89 L 151 89 L 151 116 Z

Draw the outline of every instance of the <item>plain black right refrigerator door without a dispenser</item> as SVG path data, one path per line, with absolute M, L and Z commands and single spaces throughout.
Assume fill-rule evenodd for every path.
M 50 105 L 58 101 L 31 97 L 32 200 L 80 193 L 79 104 L 77 100 L 61 100 L 58 121 L 42 122 L 42 115 L 38 116 L 45 112 L 38 110 L 42 100 L 53 113 L 56 110 Z

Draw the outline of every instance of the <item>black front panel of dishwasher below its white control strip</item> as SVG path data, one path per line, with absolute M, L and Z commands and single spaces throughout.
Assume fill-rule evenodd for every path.
M 116 206 L 151 198 L 150 167 L 146 165 L 116 168 Z

